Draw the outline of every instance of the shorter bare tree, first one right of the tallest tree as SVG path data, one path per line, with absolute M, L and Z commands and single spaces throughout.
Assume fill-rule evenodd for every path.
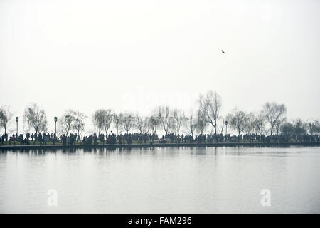
M 238 108 L 234 108 L 231 113 L 227 115 L 227 120 L 230 125 L 230 128 L 233 130 L 237 130 L 238 134 L 245 130 L 245 125 L 247 123 L 247 114 L 245 111 L 238 110 Z

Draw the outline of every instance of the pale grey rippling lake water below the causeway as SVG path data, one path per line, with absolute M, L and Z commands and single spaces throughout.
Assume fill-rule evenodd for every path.
M 0 152 L 0 212 L 319 213 L 320 147 Z

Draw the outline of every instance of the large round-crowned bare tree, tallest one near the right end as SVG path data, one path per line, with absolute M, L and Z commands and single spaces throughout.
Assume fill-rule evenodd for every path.
M 277 103 L 272 102 L 263 105 L 262 112 L 264 113 L 267 122 L 270 124 L 270 135 L 272 135 L 277 122 L 284 118 L 286 110 L 284 104 L 278 105 Z

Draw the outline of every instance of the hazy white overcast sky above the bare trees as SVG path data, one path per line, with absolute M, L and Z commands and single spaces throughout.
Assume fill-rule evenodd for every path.
M 237 106 L 320 118 L 320 1 L 0 0 L 0 106 L 149 113 Z M 221 54 L 223 49 L 226 54 Z M 90 128 L 90 127 L 88 127 Z

